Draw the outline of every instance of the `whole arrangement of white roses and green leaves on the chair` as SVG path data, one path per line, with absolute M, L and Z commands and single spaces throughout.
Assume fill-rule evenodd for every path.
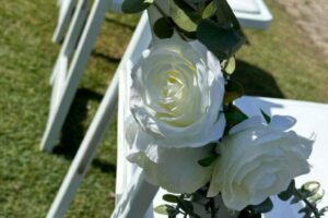
M 292 117 L 248 118 L 233 104 L 243 87 L 230 75 L 247 39 L 226 0 L 122 4 L 126 13 L 145 9 L 154 40 L 128 69 L 133 118 L 127 120 L 127 158 L 150 183 L 176 193 L 164 195 L 167 204 L 155 210 L 197 218 L 219 217 L 226 207 L 231 217 L 255 218 L 271 210 L 270 196 L 278 195 L 304 202 L 305 217 L 323 216 L 319 183 L 294 183 L 309 171 L 314 140 L 289 131 Z

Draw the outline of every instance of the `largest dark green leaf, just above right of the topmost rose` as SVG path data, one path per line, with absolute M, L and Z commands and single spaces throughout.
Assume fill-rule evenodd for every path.
M 199 23 L 197 37 L 221 61 L 233 57 L 245 43 L 237 31 L 224 28 L 209 19 Z

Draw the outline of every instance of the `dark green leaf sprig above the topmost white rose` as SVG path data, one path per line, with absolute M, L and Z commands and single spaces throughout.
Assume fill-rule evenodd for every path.
M 198 39 L 220 61 L 230 60 L 246 41 L 226 0 L 166 0 L 168 14 L 160 1 L 164 0 L 125 0 L 122 11 L 137 13 L 153 5 L 162 15 L 151 26 L 159 38 L 171 38 L 175 31 L 184 40 Z

